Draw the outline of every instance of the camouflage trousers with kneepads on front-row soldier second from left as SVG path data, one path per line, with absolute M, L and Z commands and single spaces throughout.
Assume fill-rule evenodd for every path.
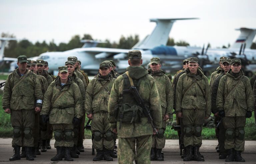
M 64 147 L 73 147 L 73 124 L 51 124 L 54 131 L 55 143 L 54 147 L 64 146 Z

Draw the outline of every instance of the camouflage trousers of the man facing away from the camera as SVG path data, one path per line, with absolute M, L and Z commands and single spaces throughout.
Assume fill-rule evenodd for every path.
M 119 164 L 150 164 L 150 150 L 152 135 L 134 138 L 118 138 L 118 163 Z M 136 152 L 135 153 L 135 144 Z

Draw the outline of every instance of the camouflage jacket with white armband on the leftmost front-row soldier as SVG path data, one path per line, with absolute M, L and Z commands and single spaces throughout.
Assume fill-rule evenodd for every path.
M 20 76 L 18 68 L 7 77 L 3 92 L 3 109 L 33 109 L 36 107 L 36 100 L 43 99 L 41 84 L 37 75 L 32 71 L 12 91 L 12 88 L 22 78 L 23 76 Z

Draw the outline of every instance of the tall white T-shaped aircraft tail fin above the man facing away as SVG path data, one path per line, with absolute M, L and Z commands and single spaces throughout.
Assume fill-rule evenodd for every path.
M 172 25 L 176 20 L 187 20 L 198 18 L 178 18 L 178 19 L 150 19 L 150 22 L 156 22 L 156 27 L 151 35 L 146 36 L 138 42 L 132 49 L 152 49 L 157 46 L 166 46 Z

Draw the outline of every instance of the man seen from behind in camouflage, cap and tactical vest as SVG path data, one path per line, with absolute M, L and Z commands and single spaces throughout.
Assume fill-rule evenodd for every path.
M 140 67 L 142 64 L 141 52 L 138 50 L 128 53 L 127 73 L 119 76 L 115 81 L 108 103 L 110 126 L 113 132 L 118 133 L 118 163 L 119 164 L 149 164 L 150 150 L 152 147 L 153 128 L 145 115 L 141 115 L 141 107 L 138 105 L 133 95 L 123 92 L 134 83 L 145 104 L 149 106 L 153 123 L 156 128 L 162 128 L 162 110 L 157 85 L 148 72 Z M 130 78 L 129 78 L 129 77 Z M 130 80 L 129 80 L 130 79 Z M 118 109 L 118 111 L 116 111 Z M 123 117 L 116 112 L 137 111 L 131 118 L 129 113 Z M 136 116 L 135 119 L 133 119 Z M 123 121 L 126 120 L 127 121 Z M 132 123 L 130 123 L 132 122 Z M 155 134 L 155 133 L 154 133 Z M 136 154 L 135 154 L 136 144 Z

